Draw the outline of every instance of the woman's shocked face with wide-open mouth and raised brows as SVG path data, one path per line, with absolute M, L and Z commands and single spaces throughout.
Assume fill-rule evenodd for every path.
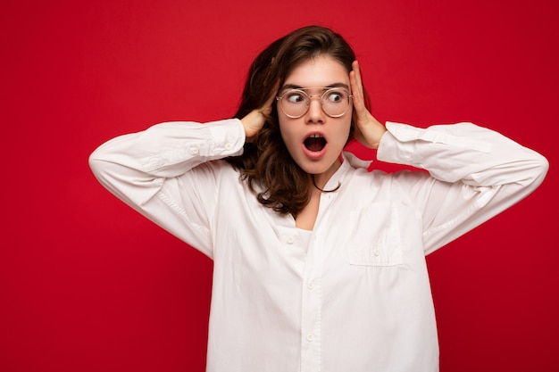
M 319 55 L 297 66 L 280 89 L 280 96 L 290 88 L 304 88 L 304 92 L 312 96 L 308 111 L 303 116 L 296 119 L 288 117 L 280 108 L 282 103 L 277 101 L 283 141 L 297 165 L 305 172 L 316 175 L 317 182 L 320 179 L 326 182 L 341 164 L 339 154 L 346 145 L 353 112 L 350 100 L 350 106 L 342 116 L 333 118 L 327 115 L 321 105 L 324 87 L 342 87 L 350 92 L 348 71 L 330 55 Z M 329 96 L 334 102 L 338 97 L 336 94 Z M 300 96 L 288 98 L 284 95 L 282 99 L 296 102 Z

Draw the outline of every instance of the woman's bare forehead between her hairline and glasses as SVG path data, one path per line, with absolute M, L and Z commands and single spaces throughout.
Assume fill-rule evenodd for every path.
M 285 84 L 298 87 L 330 87 L 333 84 L 349 85 L 346 67 L 330 55 L 319 55 L 302 62 L 288 75 Z

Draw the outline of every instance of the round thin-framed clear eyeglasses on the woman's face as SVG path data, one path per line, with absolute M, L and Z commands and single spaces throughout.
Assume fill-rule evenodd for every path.
M 306 90 L 325 89 L 321 95 L 307 95 Z M 351 106 L 350 95 L 343 87 L 305 87 L 289 89 L 283 95 L 276 96 L 280 109 L 288 118 L 297 119 L 309 111 L 311 99 L 321 97 L 322 111 L 331 118 L 343 116 Z

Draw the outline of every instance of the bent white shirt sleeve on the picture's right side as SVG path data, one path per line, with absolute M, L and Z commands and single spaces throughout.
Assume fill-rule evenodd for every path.
M 377 158 L 430 175 L 395 177 L 421 212 L 426 254 L 518 203 L 549 167 L 539 153 L 472 123 L 414 128 L 388 122 L 387 129 Z

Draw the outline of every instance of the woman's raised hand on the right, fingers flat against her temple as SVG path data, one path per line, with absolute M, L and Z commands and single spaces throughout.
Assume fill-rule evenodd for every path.
M 354 95 L 354 136 L 364 146 L 376 149 L 379 147 L 380 137 L 384 135 L 387 128 L 380 124 L 380 121 L 376 120 L 365 107 L 359 62 L 353 62 L 352 68 L 354 70 L 349 73 L 349 82 Z

